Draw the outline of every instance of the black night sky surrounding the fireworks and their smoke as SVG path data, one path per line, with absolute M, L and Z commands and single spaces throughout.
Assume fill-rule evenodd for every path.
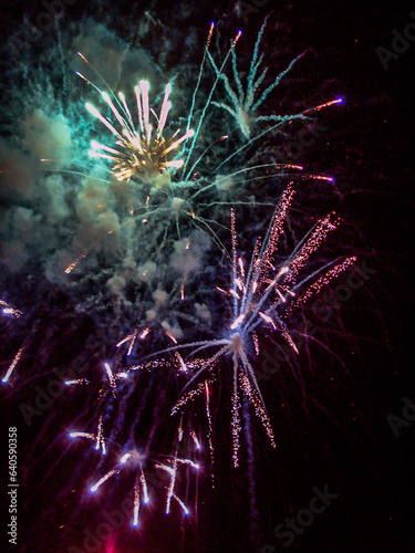
M 246 476 L 247 463 L 245 461 L 239 471 L 231 469 L 227 436 L 218 431 L 216 488 L 211 490 L 208 473 L 200 474 L 197 523 L 186 521 L 183 526 L 185 532 L 181 532 L 183 523 L 177 513 L 172 513 L 172 519 L 166 520 L 159 511 L 155 511 L 146 515 L 146 528 L 138 538 L 129 529 L 124 531 L 122 528 L 103 542 L 101 549 L 91 551 L 271 553 L 286 550 L 415 550 L 412 452 L 415 426 L 409 420 L 411 408 L 397 437 L 391 427 L 391 417 L 387 418 L 391 414 L 404 417 L 405 397 L 409 403 L 415 401 L 412 355 L 414 294 L 409 276 L 414 195 L 411 83 L 415 12 L 412 17 L 413 6 L 406 1 L 294 0 L 288 3 L 262 0 L 257 3 L 263 6 L 250 10 L 246 18 L 238 15 L 235 3 L 230 2 L 201 1 L 193 10 L 187 9 L 185 1 L 168 6 L 167 2 L 155 2 L 149 8 L 164 25 L 176 30 L 172 33 L 173 43 L 168 45 L 169 58 L 166 61 L 166 65 L 172 66 L 181 63 L 180 36 L 189 28 L 195 28 L 197 36 L 201 36 L 201 31 L 205 32 L 211 19 L 226 36 L 234 36 L 239 28 L 242 29 L 245 42 L 241 55 L 249 63 L 250 49 L 247 44 L 255 44 L 264 17 L 272 10 L 270 20 L 274 27 L 269 34 L 264 34 L 264 58 L 272 61 L 279 59 L 277 39 L 281 40 L 284 61 L 311 49 L 308 63 L 302 63 L 295 74 L 301 74 L 303 79 L 295 82 L 298 90 L 301 93 L 304 91 L 305 96 L 315 103 L 321 98 L 329 100 L 333 94 L 344 97 L 344 106 L 322 115 L 321 122 L 328 131 L 315 144 L 304 148 L 300 157 L 310 173 L 335 177 L 342 198 L 341 215 L 354 229 L 354 234 L 351 232 L 346 239 L 354 238 L 344 246 L 347 251 L 355 249 L 366 267 L 373 270 L 365 285 L 342 307 L 339 319 L 330 321 L 330 328 L 319 331 L 319 336 L 324 336 L 325 331 L 333 330 L 330 347 L 334 349 L 333 355 L 342 359 L 344 377 L 330 387 L 330 372 L 332 367 L 340 371 L 340 365 L 330 355 L 311 348 L 313 357 L 310 363 L 314 373 L 307 384 L 315 401 L 303 401 L 292 379 L 284 383 L 279 376 L 263 385 L 278 447 L 276 451 L 268 448 L 264 435 L 256 429 L 256 515 L 252 517 L 250 508 L 252 498 Z M 253 6 L 255 2 L 240 4 L 239 9 L 247 9 L 247 4 Z M 104 0 L 77 0 L 65 9 L 62 25 L 91 17 L 105 22 L 128 42 L 134 40 L 134 21 L 144 17 L 145 9 L 143 2 L 121 1 L 113 6 Z M 34 21 L 43 11 L 42 2 L 14 2 L 13 6 L 2 2 L 0 27 L 6 41 L 22 24 L 24 14 Z M 407 40 L 406 44 L 393 44 L 396 36 L 394 30 L 403 33 L 412 22 L 412 30 L 407 33 L 414 39 Z M 35 55 L 48 48 L 50 40 L 53 39 L 48 35 L 44 41 L 41 39 L 33 44 Z M 145 48 L 152 53 L 157 48 L 164 48 L 156 36 L 146 40 Z M 384 50 L 381 51 L 380 46 Z M 392 52 L 390 59 L 386 59 L 390 55 L 386 51 Z M 191 54 L 188 59 L 189 67 L 193 67 Z M 3 51 L 1 64 L 7 79 L 13 73 L 9 71 L 11 63 L 18 62 Z M 18 86 L 19 83 L 12 82 L 8 98 Z M 7 88 L 8 82 L 3 81 L 2 90 Z M 290 91 L 282 91 L 295 102 L 294 93 L 291 95 Z M 276 104 L 278 100 L 276 97 Z M 272 107 L 272 102 L 268 106 Z M 4 105 L 2 139 L 10 140 L 7 113 L 10 104 Z M 7 204 L 8 200 L 1 201 Z M 17 284 L 19 279 L 30 280 L 30 271 L 23 270 L 18 276 L 10 276 L 3 265 L 0 265 L 0 300 L 8 294 L 10 303 L 29 307 L 29 289 L 24 288 L 24 305 L 21 305 Z M 21 447 L 18 467 L 22 482 L 19 489 L 19 545 L 8 549 L 9 501 L 4 457 L 2 543 L 4 551 L 28 553 L 63 552 L 72 544 L 82 550 L 85 529 L 96 529 L 102 520 L 102 505 L 89 509 L 86 500 L 80 499 L 87 479 L 85 472 L 90 458 L 80 463 L 82 449 L 69 449 L 62 438 L 79 416 L 87 395 L 81 392 L 77 398 L 71 396 L 62 400 L 60 407 L 52 405 L 31 427 L 24 424 L 19 408 L 22 403 L 33 399 L 33 386 L 46 385 L 50 371 L 56 363 L 63 366 L 82 355 L 86 337 L 96 327 L 96 320 L 86 315 L 76 320 L 77 326 L 73 316 L 66 317 L 65 311 L 75 302 L 64 286 L 50 289 L 44 282 L 39 285 L 41 292 L 33 292 L 33 301 L 43 302 L 43 312 L 48 313 L 48 317 L 37 322 L 42 336 L 38 337 L 37 331 L 34 341 L 48 345 L 50 340 L 51 344 L 62 349 L 56 351 L 51 345 L 43 348 L 41 359 L 39 356 L 28 358 L 24 366 L 30 378 L 24 380 L 24 385 L 18 386 L 13 393 L 11 388 L 4 393 L 0 390 L 1 413 L 4 414 L 1 450 L 6 452 L 7 449 L 8 427 L 17 426 Z M 29 286 L 27 281 L 24 286 Z M 108 316 L 107 313 L 105 316 Z M 32 319 L 34 321 L 35 317 Z M 19 323 L 17 328 L 1 326 L 4 333 L 0 349 L 2 367 L 8 366 L 19 344 L 30 333 L 30 327 L 27 328 L 23 323 Z M 96 351 L 94 355 L 100 354 Z M 41 367 L 38 375 L 35 366 Z M 153 387 L 152 394 L 156 393 L 163 394 L 164 390 L 157 392 Z M 222 401 L 229 407 L 226 398 Z M 218 428 L 226 428 L 229 424 L 224 411 L 219 410 L 216 415 Z M 145 413 L 143 416 L 152 420 L 153 415 Z M 415 414 L 412 418 L 415 419 Z M 172 434 L 172 428 L 169 422 L 162 425 L 166 436 Z M 286 518 L 308 509 L 315 488 L 323 490 L 324 487 L 339 497 L 324 512 L 315 514 L 312 524 L 304 525 L 293 543 L 286 546 L 283 539 L 273 535 L 273 530 L 284 523 Z M 120 505 L 127 491 L 125 484 L 112 498 L 111 504 Z

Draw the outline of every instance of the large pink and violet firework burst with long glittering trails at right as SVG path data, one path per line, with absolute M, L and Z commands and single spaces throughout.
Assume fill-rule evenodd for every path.
M 235 212 L 230 213 L 231 231 L 231 288 L 219 292 L 225 293 L 232 300 L 234 317 L 229 323 L 228 337 L 224 340 L 211 340 L 194 342 L 189 344 L 176 345 L 174 347 L 158 352 L 162 355 L 167 352 L 177 352 L 179 348 L 193 348 L 191 356 L 200 351 L 218 347 L 218 351 L 209 358 L 191 366 L 193 376 L 185 385 L 183 393 L 188 388 L 206 369 L 212 369 L 219 358 L 231 354 L 232 357 L 232 393 L 231 393 L 231 436 L 232 436 L 232 459 L 234 466 L 239 465 L 239 434 L 241 429 L 240 420 L 240 394 L 248 397 L 253 407 L 256 416 L 260 419 L 266 434 L 274 448 L 274 436 L 264 405 L 261 390 L 256 378 L 255 369 L 249 361 L 250 349 L 253 348 L 256 355 L 260 351 L 257 328 L 263 325 L 279 332 L 289 343 L 294 353 L 298 347 L 290 336 L 287 324 L 282 316 L 287 315 L 291 305 L 301 304 L 298 292 L 304 285 L 314 280 L 315 282 L 304 292 L 304 300 L 318 293 L 324 284 L 338 275 L 345 267 L 352 262 L 343 260 L 333 267 L 333 262 L 314 270 L 311 274 L 301 276 L 310 257 L 326 240 L 330 232 L 336 229 L 339 219 L 330 213 L 320 220 L 314 228 L 295 247 L 294 251 L 283 262 L 274 262 L 276 253 L 279 249 L 280 237 L 283 233 L 287 213 L 292 204 L 294 190 L 290 184 L 281 195 L 276 207 L 273 217 L 261 242 L 257 240 L 248 271 L 245 270 L 241 258 L 237 255 L 237 231 Z M 354 258 L 353 258 L 354 259 Z M 315 280 L 317 279 L 317 280 Z M 281 311 L 282 310 L 282 311 Z M 189 364 L 188 364 L 189 367 Z M 172 410 L 175 414 L 181 410 L 185 405 L 204 392 L 205 384 L 199 384 L 195 389 L 187 392 L 176 403 Z M 210 431 L 210 430 L 209 430 Z

